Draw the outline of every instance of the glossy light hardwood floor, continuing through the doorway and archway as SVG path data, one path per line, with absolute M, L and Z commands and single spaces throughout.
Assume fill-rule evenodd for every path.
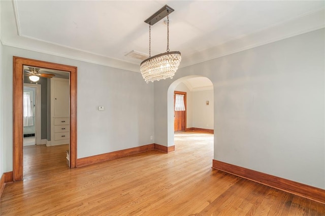
M 213 134 L 177 133 L 175 152 L 71 170 L 67 149 L 24 147 L 24 180 L 6 185 L 1 215 L 325 215 L 325 205 L 211 169 Z

